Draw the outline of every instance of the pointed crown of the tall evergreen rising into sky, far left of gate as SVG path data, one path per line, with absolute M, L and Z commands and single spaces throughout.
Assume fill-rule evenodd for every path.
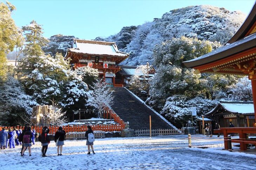
M 22 27 L 25 33 L 25 40 L 27 42 L 25 49 L 23 50 L 24 55 L 27 56 L 41 56 L 43 55 L 42 47 L 45 46 L 49 41 L 43 37 L 43 28 L 36 21 L 31 21 L 29 25 Z

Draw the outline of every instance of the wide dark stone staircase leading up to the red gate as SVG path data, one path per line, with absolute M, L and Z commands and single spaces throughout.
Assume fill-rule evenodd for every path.
M 149 129 L 149 115 L 151 115 L 151 129 L 176 129 L 126 88 L 112 87 L 112 91 L 114 103 L 111 108 L 124 122 L 129 121 L 131 129 Z

